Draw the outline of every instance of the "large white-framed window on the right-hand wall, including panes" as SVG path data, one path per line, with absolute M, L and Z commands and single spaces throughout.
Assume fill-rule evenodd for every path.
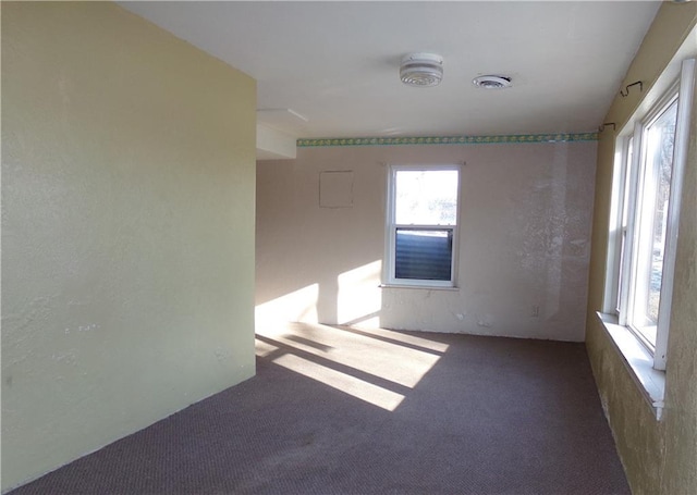
M 694 61 L 616 143 L 606 312 L 665 369 Z

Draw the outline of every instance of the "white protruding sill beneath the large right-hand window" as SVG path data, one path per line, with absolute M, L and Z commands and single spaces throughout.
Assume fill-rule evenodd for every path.
M 656 419 L 660 420 L 664 406 L 665 372 L 653 369 L 653 356 L 632 332 L 617 324 L 617 318 L 614 314 L 599 311 L 596 314 L 614 343 L 634 382 L 651 406 Z

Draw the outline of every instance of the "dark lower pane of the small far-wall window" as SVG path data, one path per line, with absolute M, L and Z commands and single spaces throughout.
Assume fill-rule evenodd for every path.
M 395 279 L 449 281 L 453 230 L 396 228 Z

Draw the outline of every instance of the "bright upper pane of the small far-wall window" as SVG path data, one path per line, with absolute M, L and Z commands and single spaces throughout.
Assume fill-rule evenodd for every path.
M 456 170 L 399 170 L 395 183 L 395 223 L 455 225 Z

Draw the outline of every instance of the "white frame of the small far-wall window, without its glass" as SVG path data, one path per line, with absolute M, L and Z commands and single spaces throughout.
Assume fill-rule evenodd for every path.
M 384 286 L 403 286 L 403 287 L 423 287 L 423 288 L 456 288 L 456 273 L 457 273 L 457 252 L 458 252 L 458 239 L 460 239 L 460 208 L 461 208 L 461 187 L 462 187 L 462 168 L 458 164 L 428 164 L 428 165 L 403 165 L 403 164 L 390 164 L 388 175 L 388 205 L 387 205 L 387 242 L 384 259 L 384 272 L 383 272 L 383 285 Z M 396 173 L 399 171 L 447 171 L 454 170 L 457 172 L 457 208 L 455 212 L 454 225 L 416 225 L 416 224 L 398 224 L 395 222 L 395 207 L 396 207 Z M 419 230 L 447 230 L 452 228 L 452 258 L 450 264 L 450 280 L 449 281 L 436 281 L 436 280 L 420 280 L 420 279 L 396 279 L 395 273 L 395 250 L 396 250 L 396 231 L 398 228 L 419 228 Z

